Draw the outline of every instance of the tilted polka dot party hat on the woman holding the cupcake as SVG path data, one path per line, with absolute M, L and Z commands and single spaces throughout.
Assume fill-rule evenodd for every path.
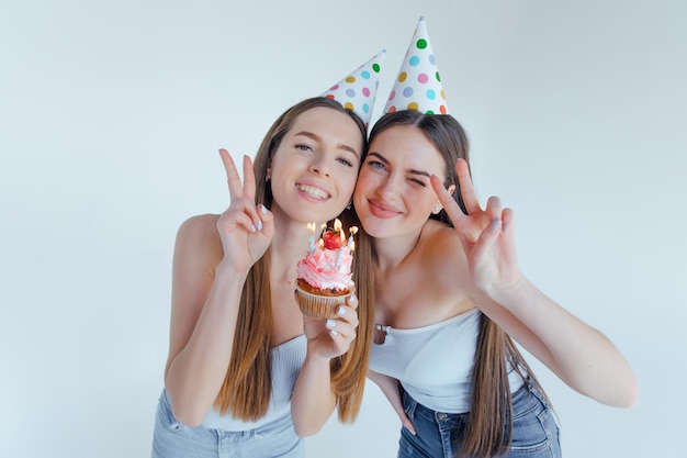
M 323 92 L 320 97 L 334 99 L 341 103 L 345 109 L 353 111 L 367 126 L 372 116 L 384 57 L 386 57 L 386 49 L 358 67 L 349 76 Z

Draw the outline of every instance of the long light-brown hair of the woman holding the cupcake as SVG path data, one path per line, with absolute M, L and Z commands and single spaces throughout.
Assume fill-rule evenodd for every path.
M 363 152 L 367 152 L 367 135 L 363 122 L 338 102 L 316 97 L 306 99 L 286 110 L 274 121 L 266 134 L 254 161 L 256 174 L 256 199 L 268 209 L 272 205 L 272 189 L 266 181 L 270 160 L 295 119 L 314 108 L 329 108 L 350 115 L 360 129 Z M 364 157 L 363 157 L 364 158 Z M 362 161 L 361 161 L 362 164 Z M 347 227 L 358 225 L 356 212 L 345 210 L 340 219 Z M 255 421 L 262 417 L 272 395 L 272 366 L 270 336 L 272 331 L 272 299 L 270 288 L 269 250 L 251 267 L 244 284 L 232 358 L 219 393 L 214 402 L 223 414 Z M 337 394 L 337 407 L 341 421 L 353 421 L 360 411 L 365 381 L 365 368 L 371 346 L 373 288 L 369 275 L 371 248 L 364 242 L 357 244 L 353 257 L 353 280 L 359 299 L 358 337 L 349 350 L 331 360 L 331 386 Z

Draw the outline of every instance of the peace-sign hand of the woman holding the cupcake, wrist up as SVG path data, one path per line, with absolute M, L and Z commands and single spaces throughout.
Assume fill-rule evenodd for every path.
M 224 258 L 237 272 L 247 271 L 264 254 L 274 235 L 272 213 L 264 205 L 256 205 L 256 176 L 252 163 L 244 156 L 244 183 L 234 159 L 226 149 L 219 149 L 226 170 L 232 203 L 217 220 Z

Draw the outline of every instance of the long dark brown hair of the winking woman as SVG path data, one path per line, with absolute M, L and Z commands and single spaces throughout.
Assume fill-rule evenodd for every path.
M 452 197 L 463 213 L 468 214 L 455 172 L 455 160 L 459 158 L 470 164 L 470 144 L 461 124 L 450 114 L 424 114 L 402 110 L 384 114 L 374 124 L 370 132 L 370 143 L 376 135 L 397 125 L 417 127 L 437 147 L 446 166 L 443 186 L 448 188 L 455 185 Z M 430 217 L 453 226 L 443 210 Z M 529 378 L 539 386 L 510 336 L 483 314 L 472 369 L 470 413 L 459 456 L 486 458 L 505 455 L 510 448 L 513 399 L 507 364 L 526 383 Z

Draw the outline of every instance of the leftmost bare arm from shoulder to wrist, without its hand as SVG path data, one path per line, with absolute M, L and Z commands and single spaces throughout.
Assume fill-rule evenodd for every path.
M 222 247 L 216 233 L 210 234 L 211 217 L 191 219 L 181 226 L 172 273 L 165 386 L 174 416 L 192 426 L 202 422 L 224 381 L 246 278 L 222 262 L 215 269 L 213 245 L 219 252 Z

